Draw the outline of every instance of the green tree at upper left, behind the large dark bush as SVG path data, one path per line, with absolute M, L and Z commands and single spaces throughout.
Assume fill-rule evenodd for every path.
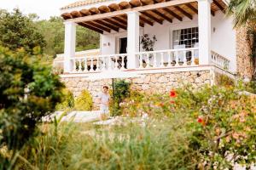
M 32 53 L 35 47 L 44 49 L 46 42 L 32 20 L 15 8 L 12 13 L 0 12 L 0 45 L 11 50 L 25 48 Z

